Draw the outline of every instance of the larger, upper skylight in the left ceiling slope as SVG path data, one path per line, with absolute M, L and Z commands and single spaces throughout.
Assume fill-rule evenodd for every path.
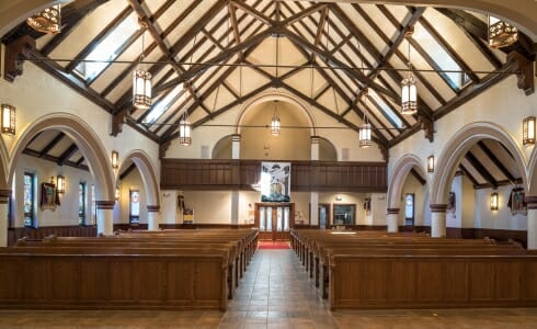
M 139 27 L 133 18 L 126 18 L 84 58 L 85 60 L 104 61 L 82 61 L 77 65 L 75 70 L 81 75 L 84 80 L 93 80 L 110 65 L 110 60 L 114 60 L 119 56 L 119 50 L 125 38 L 133 35 L 138 29 Z

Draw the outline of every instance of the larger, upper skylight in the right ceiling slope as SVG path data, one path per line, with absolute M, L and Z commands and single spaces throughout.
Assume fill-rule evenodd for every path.
M 441 76 L 447 80 L 447 82 L 454 89 L 460 89 L 462 83 L 462 73 L 460 66 L 453 59 L 453 57 L 442 47 L 438 42 L 429 33 L 429 31 L 421 24 L 416 24 L 419 29 L 415 29 L 413 35 L 414 39 L 420 43 L 423 49 L 431 56 L 436 63 L 438 69 L 453 72 L 441 72 Z M 436 69 L 436 68 L 435 68 Z

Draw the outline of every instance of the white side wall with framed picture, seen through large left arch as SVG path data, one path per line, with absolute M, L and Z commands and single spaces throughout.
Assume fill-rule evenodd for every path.
M 84 170 L 76 169 L 68 166 L 57 166 L 56 163 L 35 157 L 22 155 L 18 159 L 14 186 L 13 202 L 13 224 L 15 227 L 24 226 L 24 172 L 34 173 L 36 177 L 36 225 L 42 226 L 76 226 L 78 222 L 78 184 L 87 183 L 87 223 L 92 224 L 92 207 L 91 207 L 91 185 L 93 184 L 93 175 Z M 56 185 L 56 177 L 61 174 L 66 178 L 66 192 L 59 194 L 60 205 L 56 209 L 41 209 L 41 183 L 49 183 L 50 177 L 54 177 Z

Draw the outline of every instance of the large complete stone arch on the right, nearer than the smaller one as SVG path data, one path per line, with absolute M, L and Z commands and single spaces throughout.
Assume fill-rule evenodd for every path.
M 501 143 L 513 155 L 516 169 L 522 175 L 523 185 L 528 186 L 526 156 L 521 151 L 519 145 L 501 126 L 491 122 L 476 122 L 464 126 L 446 143 L 437 162 L 431 185 L 431 204 L 447 204 L 450 182 L 457 170 L 457 164 L 468 150 L 479 140 L 494 139 Z

